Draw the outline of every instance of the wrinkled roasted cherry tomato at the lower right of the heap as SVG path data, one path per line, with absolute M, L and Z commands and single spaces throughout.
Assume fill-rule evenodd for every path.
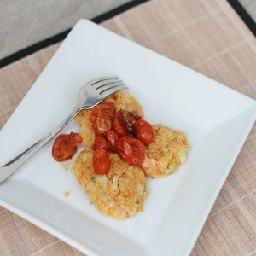
M 141 141 L 126 135 L 119 139 L 117 153 L 129 166 L 140 166 L 145 159 L 146 149 Z

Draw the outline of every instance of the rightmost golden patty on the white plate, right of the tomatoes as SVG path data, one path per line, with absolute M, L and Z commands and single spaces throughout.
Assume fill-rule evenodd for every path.
M 154 142 L 147 146 L 143 172 L 147 177 L 163 177 L 177 171 L 189 150 L 183 131 L 172 130 L 161 124 L 154 125 Z

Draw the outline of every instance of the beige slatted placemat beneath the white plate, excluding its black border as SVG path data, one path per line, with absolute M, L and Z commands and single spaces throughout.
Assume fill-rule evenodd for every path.
M 101 25 L 256 99 L 256 39 L 225 0 L 153 0 Z M 0 127 L 60 44 L 0 70 Z M 255 171 L 254 125 L 191 255 L 256 255 Z M 83 255 L 3 207 L 0 224 L 0 255 Z

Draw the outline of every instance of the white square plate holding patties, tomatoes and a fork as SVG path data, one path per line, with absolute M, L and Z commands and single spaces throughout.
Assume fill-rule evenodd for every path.
M 49 143 L 0 185 L 0 203 L 89 255 L 189 255 L 253 126 L 256 104 L 175 61 L 79 20 L 3 127 L 0 165 L 64 119 L 85 82 L 108 75 L 128 84 L 152 124 L 186 132 L 187 162 L 170 177 L 147 179 L 144 212 L 120 221 L 90 205 L 73 173 L 52 159 Z M 79 131 L 74 121 L 69 131 Z

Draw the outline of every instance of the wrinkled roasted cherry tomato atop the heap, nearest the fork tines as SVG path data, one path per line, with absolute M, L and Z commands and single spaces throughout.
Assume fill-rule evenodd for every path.
M 92 108 L 90 113 L 90 125 L 96 135 L 109 131 L 112 127 L 115 115 L 113 103 L 102 103 Z

